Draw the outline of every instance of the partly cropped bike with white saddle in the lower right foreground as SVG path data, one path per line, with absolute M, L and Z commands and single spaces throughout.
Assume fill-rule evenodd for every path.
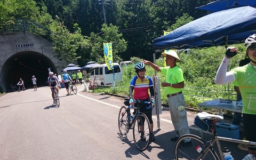
M 182 135 L 175 143 L 175 159 L 224 159 L 220 141 L 240 143 L 243 145 L 256 146 L 256 142 L 238 140 L 226 137 L 219 137 L 215 131 L 215 119 L 223 119 L 222 116 L 213 115 L 206 112 L 198 113 L 195 118 L 195 125 L 201 130 L 210 131 L 212 138 L 210 141 L 206 141 L 201 137 L 194 134 Z M 191 143 L 184 143 L 183 140 L 191 139 Z M 218 148 L 218 153 L 214 150 Z M 234 159 L 236 159 L 234 157 Z

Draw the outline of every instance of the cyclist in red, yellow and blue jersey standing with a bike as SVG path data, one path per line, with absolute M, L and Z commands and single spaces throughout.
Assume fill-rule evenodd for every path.
M 134 107 L 137 107 L 137 103 L 134 103 L 134 100 L 141 100 L 141 101 L 153 101 L 154 102 L 154 87 L 153 82 L 150 77 L 145 76 L 146 68 L 145 64 L 142 62 L 138 62 L 134 65 L 135 73 L 137 75 L 132 78 L 130 83 L 129 89 L 129 97 L 130 97 L 130 104 Z M 150 91 L 151 98 L 148 94 L 148 89 Z M 132 96 L 134 90 L 134 95 Z M 155 136 L 153 134 L 153 120 L 152 120 L 152 108 L 149 108 L 150 104 L 142 103 L 140 104 L 140 111 L 141 113 L 145 114 L 148 117 L 150 123 L 150 131 L 151 131 L 151 141 L 155 141 Z M 151 105 L 154 107 L 154 105 Z M 142 126 L 141 130 L 142 129 Z M 144 133 L 141 133 L 141 138 L 145 139 Z

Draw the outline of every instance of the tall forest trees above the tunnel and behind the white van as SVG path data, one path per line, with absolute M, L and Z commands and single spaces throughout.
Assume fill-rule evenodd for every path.
M 81 66 L 88 61 L 102 62 L 102 41 L 113 42 L 113 57 L 117 62 L 130 60 L 131 57 L 153 60 L 153 39 L 162 36 L 163 30 L 170 31 L 202 17 L 206 11 L 195 7 L 209 2 L 209 0 L 5 0 L 0 2 L 0 21 L 12 23 L 14 19 L 27 19 L 38 22 L 59 35 L 59 37 L 51 36 L 55 46 L 55 57 L 68 62 L 77 60 L 78 65 Z M 182 15 L 186 17 L 180 19 Z M 77 28 L 79 28 L 78 32 Z M 36 34 L 45 37 L 46 33 L 41 31 Z M 75 38 L 75 41 L 70 38 Z

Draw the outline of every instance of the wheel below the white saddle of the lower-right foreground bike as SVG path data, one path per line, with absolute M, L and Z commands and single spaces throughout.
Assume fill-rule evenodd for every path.
M 191 139 L 191 143 L 184 143 L 183 140 Z M 175 143 L 175 159 L 219 159 L 213 148 L 202 138 L 193 134 L 182 135 Z M 202 150 L 201 150 L 201 148 Z M 217 157 L 215 157 L 215 155 Z

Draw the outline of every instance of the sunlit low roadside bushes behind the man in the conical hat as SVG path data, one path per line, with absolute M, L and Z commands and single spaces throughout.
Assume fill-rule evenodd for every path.
M 246 57 L 243 44 L 234 45 L 238 47 L 239 53 L 232 58 L 229 63 L 229 70 L 238 66 L 240 60 Z M 197 103 L 213 99 L 236 99 L 236 93 L 233 90 L 233 84 L 216 85 L 214 83 L 215 74 L 225 55 L 225 47 L 210 47 L 208 49 L 191 49 L 187 52 L 179 52 L 181 59 L 177 65 L 183 70 L 185 78 L 185 95 L 186 107 L 198 109 Z M 160 53 L 156 53 L 160 54 Z M 136 63 L 142 59 L 132 57 L 131 61 Z M 156 65 L 163 67 L 164 59 L 160 57 L 156 60 Z M 154 70 L 146 66 L 146 75 L 154 76 Z M 116 83 L 113 87 L 99 87 L 93 90 L 94 93 L 117 94 L 129 97 L 129 85 L 131 78 L 135 76 L 133 66 L 128 66 L 123 70 L 123 81 Z M 157 72 L 160 82 L 165 81 L 165 76 Z M 165 89 L 161 86 L 162 104 L 167 104 Z M 207 110 L 207 108 L 205 108 Z

